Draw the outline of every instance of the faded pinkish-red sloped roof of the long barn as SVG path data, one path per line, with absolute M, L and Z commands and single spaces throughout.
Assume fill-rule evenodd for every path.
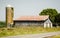
M 46 20 L 49 18 L 49 15 L 40 15 L 40 16 L 21 16 L 21 17 L 18 17 L 16 18 L 15 20 L 29 20 L 29 21 L 32 21 L 32 20 L 36 20 L 36 21 L 41 21 L 41 20 Z

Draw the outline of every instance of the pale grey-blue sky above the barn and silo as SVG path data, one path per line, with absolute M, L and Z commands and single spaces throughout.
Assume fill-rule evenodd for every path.
M 60 13 L 60 0 L 0 0 L 0 21 L 5 21 L 7 5 L 14 7 L 14 19 L 20 16 L 38 16 L 47 8 L 56 9 Z

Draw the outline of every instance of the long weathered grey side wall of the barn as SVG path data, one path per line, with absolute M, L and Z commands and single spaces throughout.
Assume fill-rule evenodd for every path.
M 43 26 L 43 22 L 25 21 L 25 22 L 15 22 L 15 26 Z

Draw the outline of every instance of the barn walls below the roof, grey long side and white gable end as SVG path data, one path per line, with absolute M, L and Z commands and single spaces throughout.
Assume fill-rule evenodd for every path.
M 15 26 L 42 26 L 42 27 L 52 27 L 52 22 L 49 19 L 45 21 L 14 21 Z

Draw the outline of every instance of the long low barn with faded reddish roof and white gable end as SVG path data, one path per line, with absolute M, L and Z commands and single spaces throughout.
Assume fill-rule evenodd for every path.
M 40 16 L 20 16 L 14 20 L 15 26 L 42 26 L 52 27 L 49 15 Z

